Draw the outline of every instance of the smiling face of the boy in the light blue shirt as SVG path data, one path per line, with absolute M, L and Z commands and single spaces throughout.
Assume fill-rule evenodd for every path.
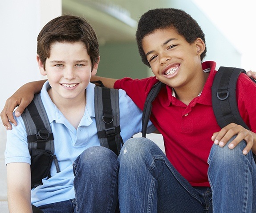
M 85 99 L 85 89 L 91 75 L 95 75 L 98 63 L 92 63 L 82 42 L 59 43 L 51 45 L 50 56 L 46 59 L 45 69 L 37 56 L 42 75 L 47 75 L 52 89 L 49 92 L 55 100 Z

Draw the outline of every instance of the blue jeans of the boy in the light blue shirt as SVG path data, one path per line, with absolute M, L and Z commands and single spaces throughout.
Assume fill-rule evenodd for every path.
M 39 208 L 44 213 L 114 213 L 118 203 L 118 161 L 102 146 L 86 149 L 73 163 L 75 199 Z

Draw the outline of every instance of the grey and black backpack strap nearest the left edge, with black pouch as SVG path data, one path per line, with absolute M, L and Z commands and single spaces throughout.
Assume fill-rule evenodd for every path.
M 55 163 L 57 172 L 60 172 L 60 167 L 54 154 L 53 133 L 40 94 L 35 95 L 21 116 L 26 127 L 28 150 L 31 155 L 33 188 L 42 184 L 43 178 L 51 177 L 52 162 Z

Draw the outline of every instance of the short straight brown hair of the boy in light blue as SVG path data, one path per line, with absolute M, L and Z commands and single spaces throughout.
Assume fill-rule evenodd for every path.
M 81 17 L 63 15 L 49 21 L 37 36 L 37 54 L 44 64 L 50 57 L 54 42 L 83 42 L 90 56 L 92 67 L 98 63 L 99 44 L 92 26 Z

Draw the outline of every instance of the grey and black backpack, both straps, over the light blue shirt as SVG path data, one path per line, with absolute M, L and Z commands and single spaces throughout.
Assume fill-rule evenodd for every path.
M 94 89 L 95 119 L 101 146 L 119 154 L 123 144 L 119 124 L 118 90 L 96 86 Z M 27 131 L 28 149 L 31 155 L 31 188 L 42 184 L 42 179 L 51 177 L 50 168 L 54 162 L 60 172 L 57 156 L 54 154 L 54 138 L 40 94 L 22 114 Z

